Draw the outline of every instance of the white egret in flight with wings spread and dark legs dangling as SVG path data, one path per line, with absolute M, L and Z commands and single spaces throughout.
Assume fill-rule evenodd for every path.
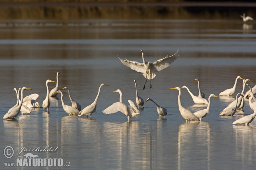
M 159 59 L 155 62 L 145 62 L 143 50 L 141 50 L 140 52 L 142 53 L 143 63 L 136 62 L 136 61 L 129 61 L 127 59 L 123 60 L 123 59 L 120 59 L 119 57 L 118 58 L 124 65 L 130 67 L 131 69 L 137 72 L 143 73 L 143 76 L 146 78 L 146 82 L 148 81 L 148 79 L 150 79 L 150 88 L 152 88 L 151 79 L 154 79 L 154 77 L 156 76 L 154 72 L 161 71 L 164 68 L 167 68 L 179 56 L 179 53 L 178 53 L 179 49 L 178 49 L 177 52 L 172 56 L 168 57 L 167 55 L 165 58 Z M 145 89 L 145 84 L 144 84 L 143 90 Z

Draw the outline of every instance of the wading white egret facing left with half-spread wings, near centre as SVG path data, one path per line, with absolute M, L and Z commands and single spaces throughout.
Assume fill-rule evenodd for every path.
M 118 92 L 120 94 L 119 102 L 113 103 L 111 106 L 109 106 L 104 111 L 102 111 L 103 113 L 112 114 L 120 111 L 125 116 L 127 116 L 128 121 L 129 121 L 129 117 L 132 120 L 132 117 L 138 116 L 140 114 L 140 112 L 136 112 L 136 110 L 132 106 L 127 106 L 122 103 L 122 92 L 119 89 L 113 92 Z

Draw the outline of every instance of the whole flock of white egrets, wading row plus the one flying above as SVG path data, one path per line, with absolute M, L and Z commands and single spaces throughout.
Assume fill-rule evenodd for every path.
M 173 54 L 172 56 L 167 56 L 163 59 L 159 59 L 155 62 L 145 62 L 144 59 L 144 54 L 143 54 L 143 50 L 140 51 L 142 53 L 142 59 L 143 59 L 143 63 L 140 62 L 135 62 L 135 61 L 129 61 L 129 60 L 123 60 L 120 59 L 120 61 L 130 67 L 131 69 L 137 71 L 137 72 L 141 72 L 143 73 L 143 76 L 146 78 L 146 82 L 149 79 L 151 82 L 151 79 L 153 79 L 156 75 L 154 74 L 157 71 L 161 71 L 164 68 L 167 68 L 172 62 L 174 62 L 178 56 L 179 56 L 179 51 L 177 51 L 175 54 Z M 47 110 L 47 112 L 49 112 L 49 106 L 50 106 L 50 102 L 49 102 L 49 96 L 57 96 L 58 93 L 61 94 L 61 103 L 62 103 L 62 107 L 64 109 L 65 112 L 67 112 L 70 116 L 90 116 L 92 115 L 92 113 L 94 113 L 96 111 L 96 106 L 97 106 L 97 101 L 99 98 L 99 94 L 100 94 L 100 90 L 102 88 L 102 86 L 110 86 L 110 85 L 105 85 L 102 84 L 99 87 L 99 91 L 98 94 L 96 96 L 96 99 L 94 100 L 94 102 L 91 105 L 88 105 L 87 107 L 85 107 L 84 109 L 81 110 L 81 105 L 79 105 L 77 102 L 75 102 L 71 96 L 70 96 L 70 90 L 65 87 L 65 88 L 58 88 L 58 74 L 57 73 L 57 81 L 52 81 L 52 80 L 47 80 L 46 81 L 46 87 L 47 87 L 47 96 L 46 99 L 44 99 L 44 102 L 42 104 L 42 107 L 45 110 Z M 232 96 L 235 92 L 236 89 L 236 84 L 237 84 L 237 80 L 238 79 L 243 79 L 240 76 L 238 76 L 236 78 L 235 84 L 233 86 L 233 88 L 227 89 L 223 92 L 221 92 L 219 95 L 220 96 Z M 197 81 L 198 82 L 198 91 L 199 94 L 198 96 L 195 96 L 192 94 L 191 91 L 189 91 L 189 88 L 186 86 L 182 86 L 181 88 L 176 87 L 176 88 L 170 88 L 170 89 L 176 89 L 179 91 L 178 94 L 178 107 L 179 107 L 179 111 L 181 116 L 186 120 L 186 122 L 190 122 L 190 121 L 201 121 L 202 118 L 204 118 L 205 116 L 207 116 L 207 114 L 209 113 L 209 107 L 210 107 L 210 98 L 213 97 L 218 97 L 215 96 L 214 94 L 210 94 L 208 101 L 206 99 L 204 99 L 205 95 L 204 93 L 202 93 L 200 91 L 200 84 L 198 79 L 193 79 L 192 81 Z M 256 98 L 255 98 L 255 94 L 256 94 L 256 85 L 255 87 L 251 88 L 250 85 L 247 85 L 246 82 L 248 81 L 252 81 L 250 79 L 243 79 L 243 89 L 241 91 L 241 93 L 236 95 L 236 100 L 233 101 L 232 103 L 230 103 L 230 105 L 227 106 L 227 108 L 225 108 L 223 111 L 221 111 L 220 115 L 221 116 L 233 116 L 236 111 L 238 109 L 243 109 L 244 107 L 244 98 L 245 97 L 249 97 L 249 105 L 250 108 L 254 111 L 253 114 L 250 114 L 248 116 L 244 116 L 238 120 L 236 120 L 235 122 L 233 122 L 233 124 L 245 124 L 248 125 L 250 122 L 253 121 L 253 119 L 256 116 Z M 56 87 L 53 88 L 50 92 L 49 92 L 49 88 L 48 88 L 48 82 L 55 82 L 56 83 Z M 145 84 L 146 84 L 145 82 Z M 138 96 L 138 92 L 137 92 L 137 84 L 136 84 L 136 80 L 134 80 L 135 83 L 135 90 L 136 90 L 136 104 L 137 106 L 134 104 L 134 102 L 132 102 L 131 100 L 128 100 L 129 102 L 129 106 L 125 105 L 122 102 L 122 92 L 118 89 L 116 91 L 113 92 L 118 92 L 120 94 L 120 99 L 119 102 L 115 102 L 113 103 L 113 105 L 109 106 L 108 108 L 106 108 L 103 113 L 105 114 L 111 114 L 111 113 L 116 113 L 116 112 L 122 112 L 125 116 L 127 116 L 128 121 L 129 118 L 138 116 L 140 114 L 140 106 L 142 106 L 144 108 L 144 101 L 143 99 Z M 145 84 L 143 87 L 143 90 L 145 89 Z M 244 94 L 244 89 L 245 86 L 249 86 L 250 90 L 247 91 Z M 150 84 L 150 88 L 152 88 L 151 84 Z M 207 104 L 207 108 L 203 109 L 203 110 L 199 110 L 195 113 L 192 113 L 191 111 L 187 110 L 186 108 L 184 108 L 181 105 L 181 101 L 180 101 L 180 95 L 181 95 L 181 91 L 180 89 L 182 88 L 186 88 L 187 91 L 189 92 L 189 94 L 191 95 L 193 101 L 195 102 L 195 104 Z M 30 113 L 30 109 L 29 108 L 40 108 L 41 106 L 38 104 L 38 102 L 35 102 L 35 100 L 38 98 L 38 94 L 32 94 L 29 96 L 26 96 L 25 98 L 23 98 L 23 90 L 31 90 L 30 88 L 19 88 L 18 91 L 15 88 L 14 89 L 16 91 L 17 94 L 17 103 L 15 106 L 13 106 L 12 108 L 9 109 L 9 111 L 5 114 L 5 116 L 3 116 L 3 119 L 6 120 L 13 120 L 15 119 L 18 114 L 21 113 Z M 63 102 L 63 94 L 61 92 L 61 90 L 67 90 L 69 97 L 70 97 L 70 101 L 72 103 L 72 106 L 69 105 L 65 105 Z M 19 95 L 21 97 L 19 97 Z M 154 102 L 152 99 L 148 98 L 145 102 L 147 101 L 152 101 Z M 253 102 L 252 102 L 253 101 Z M 160 107 L 156 102 L 154 102 L 154 104 L 157 107 L 157 113 L 159 114 L 159 117 L 161 118 L 161 116 L 163 116 L 165 118 L 166 114 L 167 114 L 167 110 L 166 108 Z

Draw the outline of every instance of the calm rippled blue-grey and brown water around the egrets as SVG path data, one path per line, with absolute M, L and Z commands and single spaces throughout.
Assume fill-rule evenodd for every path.
M 102 87 L 91 119 L 68 116 L 58 94 L 58 98 L 50 98 L 49 114 L 42 108 L 32 109 L 27 115 L 17 116 L 16 121 L 0 121 L 1 150 L 9 145 L 15 151 L 10 159 L 1 154 L 1 167 L 4 162 L 16 164 L 17 156 L 27 153 L 17 155 L 22 147 L 39 146 L 58 149 L 31 153 L 39 158 L 62 158 L 70 162 L 72 169 L 255 167 L 256 123 L 248 127 L 232 125 L 236 119 L 253 113 L 248 99 L 244 112 L 219 116 L 241 92 L 241 79 L 233 96 L 211 98 L 209 115 L 200 123 L 186 123 L 178 110 L 178 91 L 169 90 L 186 85 L 198 95 L 198 84 L 191 81 L 198 78 L 208 99 L 209 94 L 218 96 L 232 88 L 238 75 L 256 81 L 253 22 L 247 26 L 241 20 L 82 20 L 83 25 L 74 25 L 70 20 L 65 26 L 59 26 L 57 20 L 43 22 L 0 25 L 0 116 L 15 105 L 15 87 L 32 88 L 24 95 L 37 93 L 37 101 L 42 104 L 45 82 L 56 80 L 57 71 L 61 73 L 59 87 L 70 88 L 82 108 L 93 102 L 99 85 L 111 87 Z M 156 73 L 153 89 L 148 81 L 144 91 L 142 74 L 122 65 L 117 58 L 142 62 L 141 49 L 145 60 L 151 62 L 180 50 L 180 57 L 169 68 Z M 166 119 L 159 119 L 157 108 L 150 101 L 141 109 L 141 115 L 129 122 L 120 112 L 102 113 L 119 101 L 119 94 L 112 92 L 116 89 L 122 91 L 125 104 L 128 99 L 135 102 L 134 79 L 144 101 L 150 97 L 168 110 Z M 253 87 L 255 82 L 249 84 Z M 49 89 L 55 87 L 55 83 L 48 85 Z M 65 104 L 71 105 L 67 91 L 63 92 Z M 190 111 L 207 107 L 195 105 L 186 89 L 181 93 L 182 105 Z

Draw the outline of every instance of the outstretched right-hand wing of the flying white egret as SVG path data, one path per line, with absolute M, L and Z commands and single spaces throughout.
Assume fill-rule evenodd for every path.
M 165 69 L 166 67 L 168 67 L 170 64 L 172 64 L 172 62 L 174 62 L 178 57 L 179 57 L 180 53 L 179 53 L 179 49 L 177 50 L 177 52 L 175 54 L 173 54 L 172 56 L 167 56 L 163 59 L 158 59 L 155 62 L 151 62 L 150 66 L 154 71 L 161 71 L 163 69 Z

